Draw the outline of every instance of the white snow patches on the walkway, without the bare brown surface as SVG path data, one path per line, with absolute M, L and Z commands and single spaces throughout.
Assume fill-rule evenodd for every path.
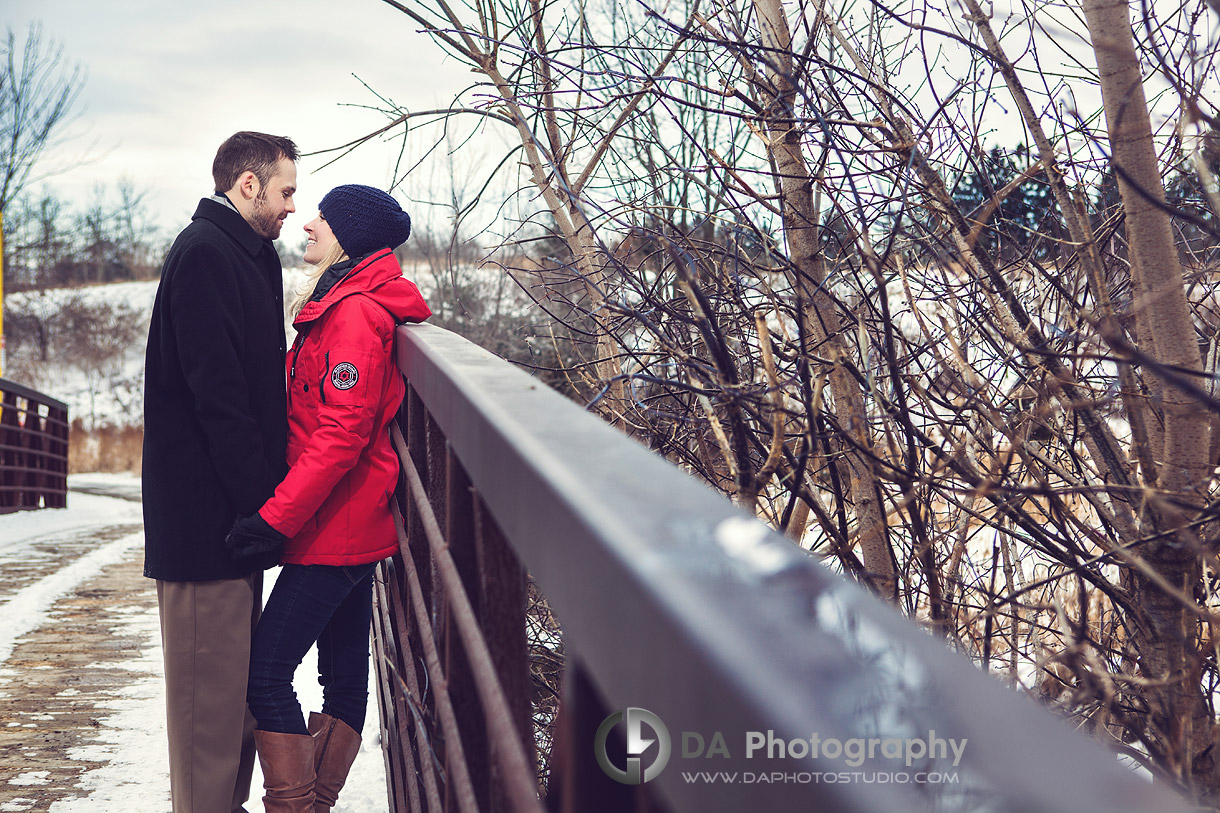
M 107 486 L 123 493 L 138 493 L 139 481 L 132 475 L 79 475 L 68 479 L 70 487 Z M 73 492 L 68 508 L 61 510 L 21 511 L 6 515 L 0 524 L 0 559 L 17 557 L 37 540 L 89 527 L 105 527 L 140 521 L 135 502 Z M 0 604 L 0 671 L 13 643 L 37 629 L 54 602 L 70 593 L 101 568 L 123 557 L 139 555 L 143 533 L 127 535 L 105 543 L 68 566 L 18 591 Z M 268 571 L 270 592 L 274 574 Z M 126 813 L 168 807 L 170 779 L 165 740 L 165 684 L 161 679 L 161 641 L 156 610 L 128 614 L 121 619 L 124 632 L 145 641 L 139 658 L 127 663 L 131 682 L 105 708 L 98 712 L 99 736 L 88 746 L 74 750 L 71 759 L 100 761 L 102 767 L 84 774 L 79 789 L 83 798 L 56 802 L 50 813 Z M 372 680 L 370 680 L 372 684 Z M 306 657 L 296 673 L 295 688 L 306 709 L 321 707 L 321 687 L 316 678 L 316 653 Z M 370 714 L 364 743 L 344 787 L 336 813 L 388 811 L 386 770 L 381 753 L 376 693 L 370 685 Z M 26 773 L 16 784 L 38 785 L 45 776 Z M 250 813 L 261 813 L 262 776 L 255 768 Z

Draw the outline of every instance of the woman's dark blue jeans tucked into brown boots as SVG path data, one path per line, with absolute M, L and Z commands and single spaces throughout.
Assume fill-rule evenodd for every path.
M 279 571 L 250 643 L 246 702 L 261 730 L 309 734 L 293 673 L 315 642 L 322 713 L 364 730 L 376 568 L 287 564 Z

